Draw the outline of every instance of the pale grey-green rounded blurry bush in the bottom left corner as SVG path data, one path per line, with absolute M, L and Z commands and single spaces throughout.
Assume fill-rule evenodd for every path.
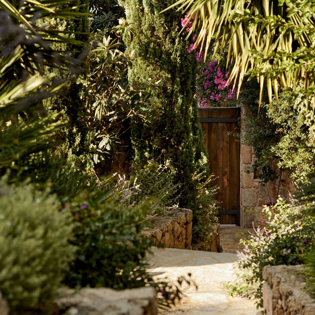
M 11 313 L 45 308 L 73 255 L 72 226 L 56 198 L 0 182 L 0 291 Z

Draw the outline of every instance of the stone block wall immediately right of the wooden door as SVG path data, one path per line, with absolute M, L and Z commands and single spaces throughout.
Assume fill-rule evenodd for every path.
M 241 121 L 248 109 L 246 106 L 241 107 Z M 244 129 L 241 125 L 241 134 L 244 133 Z M 246 146 L 241 143 L 241 163 L 240 163 L 240 225 L 242 227 L 257 227 L 256 215 L 254 212 L 250 212 L 251 209 L 260 210 L 262 205 L 269 203 L 269 199 L 266 193 L 266 187 L 260 185 L 260 179 L 254 179 L 254 171 L 250 171 L 247 174 L 247 170 L 255 162 L 255 152 L 250 146 Z M 272 161 L 272 169 L 276 168 L 278 159 Z M 282 179 L 283 183 L 280 183 L 279 195 L 284 199 L 289 199 L 289 192 L 293 191 L 292 181 L 289 179 L 289 173 L 283 172 Z M 278 189 L 278 180 L 276 183 L 268 183 L 268 191 L 271 200 L 275 203 Z

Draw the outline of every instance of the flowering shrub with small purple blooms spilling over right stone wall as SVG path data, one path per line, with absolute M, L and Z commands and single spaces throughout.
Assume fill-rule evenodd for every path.
M 271 220 L 269 230 L 257 230 L 249 239 L 241 240 L 244 252 L 239 253 L 238 280 L 227 285 L 232 295 L 255 299 L 257 307 L 262 307 L 262 268 L 272 265 L 299 265 L 304 262 L 304 254 L 312 248 L 315 223 L 309 215 L 302 215 L 279 198 L 275 205 L 279 214 Z

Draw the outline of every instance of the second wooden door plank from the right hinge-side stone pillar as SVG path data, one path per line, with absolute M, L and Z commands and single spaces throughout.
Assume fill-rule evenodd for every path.
M 223 118 L 230 117 L 230 109 L 223 108 Z M 222 209 L 229 209 L 229 136 L 228 125 L 230 123 L 223 123 L 223 138 L 222 138 Z M 229 224 L 229 215 L 222 215 L 222 224 Z

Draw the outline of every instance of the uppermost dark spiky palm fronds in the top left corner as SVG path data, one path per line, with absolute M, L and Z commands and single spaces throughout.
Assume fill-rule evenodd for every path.
M 68 36 L 69 32 L 56 28 L 53 23 L 45 25 L 54 19 L 66 21 L 88 15 L 75 12 L 77 7 L 62 9 L 64 3 L 72 1 L 0 0 L 0 55 L 10 54 L 17 46 L 15 43 L 20 44 L 23 58 L 14 62 L 14 70 L 19 76 L 25 76 L 25 70 L 31 74 L 42 73 L 43 66 L 62 65 L 74 72 L 80 71 L 82 60 L 70 58 L 67 51 L 54 51 L 51 44 L 58 42 L 77 45 L 78 50 L 81 50 L 85 43 Z

